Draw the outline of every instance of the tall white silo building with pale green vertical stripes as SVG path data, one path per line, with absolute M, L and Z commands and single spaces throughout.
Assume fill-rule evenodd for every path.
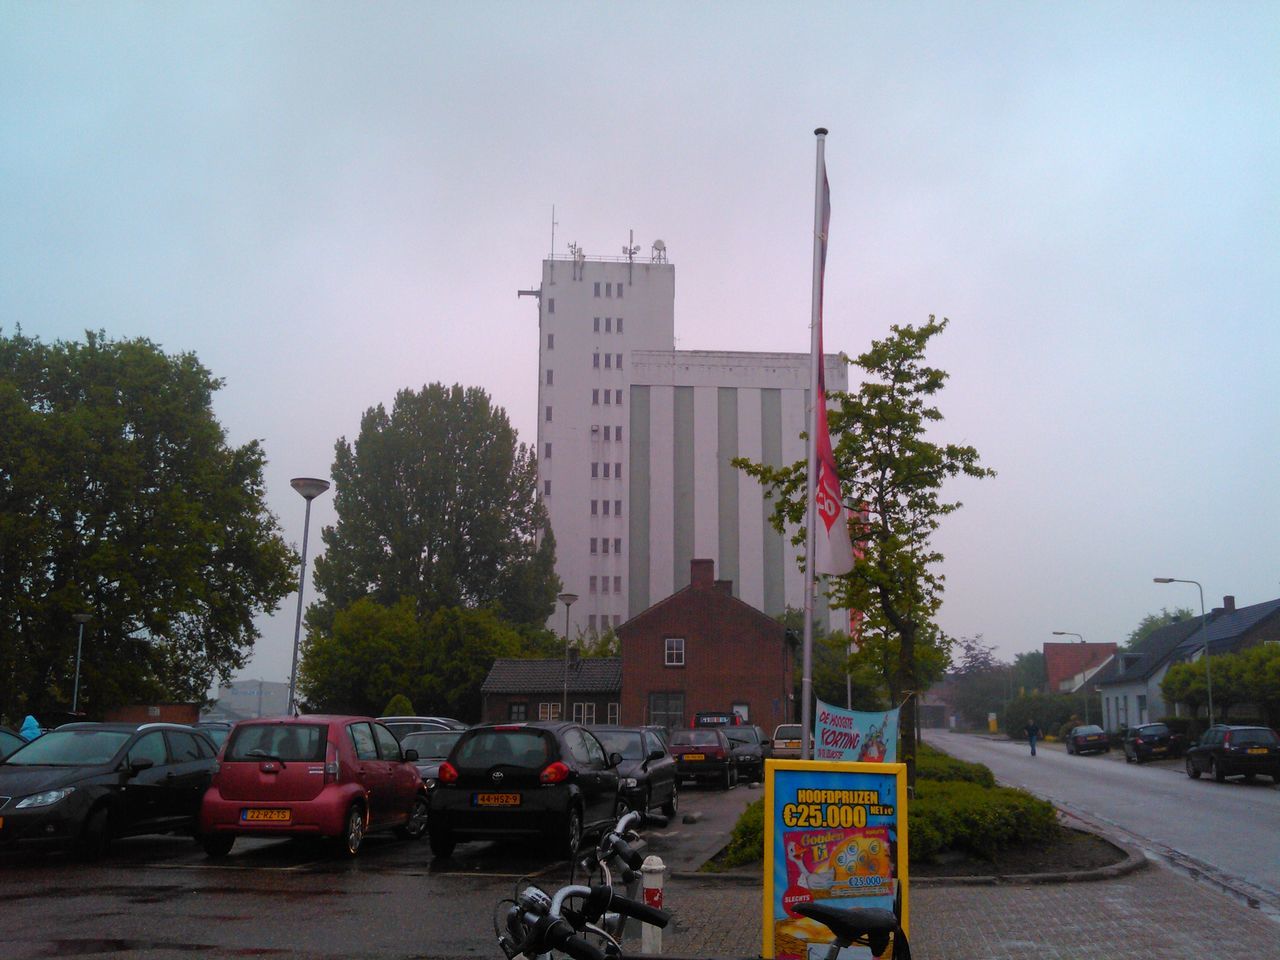
M 803 607 L 796 548 L 732 460 L 804 458 L 809 355 L 676 351 L 675 270 L 660 251 L 545 260 L 538 302 L 539 489 L 556 571 L 579 596 L 570 634 L 604 632 L 669 596 L 695 557 L 769 616 Z M 826 378 L 847 389 L 837 358 Z M 563 607 L 548 625 L 564 628 Z

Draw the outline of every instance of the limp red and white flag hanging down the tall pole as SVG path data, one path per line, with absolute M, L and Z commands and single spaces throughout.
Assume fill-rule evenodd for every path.
M 818 273 L 818 311 L 814 332 L 814 367 L 817 384 L 814 387 L 814 425 L 817 481 L 813 488 L 813 509 L 818 522 L 814 524 L 814 570 L 818 573 L 840 576 L 854 568 L 854 545 L 849 539 L 849 511 L 840 495 L 840 477 L 836 475 L 836 456 L 831 449 L 831 433 L 827 429 L 827 372 L 822 353 L 822 301 L 827 279 L 827 229 L 831 225 L 831 186 L 827 183 L 827 169 L 822 169 L 822 224 L 819 228 L 819 273 Z

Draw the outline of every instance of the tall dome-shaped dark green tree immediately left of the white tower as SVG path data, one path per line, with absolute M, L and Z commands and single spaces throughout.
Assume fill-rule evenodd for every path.
M 559 579 L 534 451 L 480 388 L 401 390 L 361 419 L 355 444 L 335 447 L 334 509 L 316 558 L 321 599 L 307 612 L 325 632 L 362 596 L 384 607 L 413 599 L 417 616 L 492 607 L 540 625 Z

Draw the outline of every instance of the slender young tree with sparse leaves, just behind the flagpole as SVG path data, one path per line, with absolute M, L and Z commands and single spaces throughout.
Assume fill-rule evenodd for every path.
M 836 470 L 846 504 L 860 507 L 864 520 L 854 538 L 864 545 L 851 573 L 827 581 L 837 607 L 860 609 L 864 634 L 896 646 L 896 664 L 887 677 L 890 699 L 923 692 L 937 676 L 925 676 L 931 648 L 946 666 L 947 637 L 933 625 L 942 603 L 942 554 L 933 532 L 957 500 L 942 498 L 942 485 L 956 476 L 980 479 L 995 472 L 979 463 L 978 451 L 929 439 L 942 413 L 933 398 L 947 374 L 924 362 L 925 349 L 946 329 L 947 320 L 929 317 L 922 326 L 891 326 L 854 364 L 865 374 L 856 392 L 828 394 L 836 407 L 828 415 Z M 735 461 L 758 479 L 774 498 L 773 525 L 799 529 L 803 545 L 806 462 L 772 467 Z M 923 657 L 922 657 L 923 654 Z M 938 673 L 941 676 L 941 673 Z M 902 707 L 902 758 L 915 776 L 915 698 Z

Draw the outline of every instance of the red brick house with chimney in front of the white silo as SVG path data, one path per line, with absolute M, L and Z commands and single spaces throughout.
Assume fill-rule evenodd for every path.
M 689 586 L 622 623 L 622 722 L 689 726 L 700 710 L 735 709 L 771 735 L 791 712 L 794 652 L 786 630 L 695 559 Z

